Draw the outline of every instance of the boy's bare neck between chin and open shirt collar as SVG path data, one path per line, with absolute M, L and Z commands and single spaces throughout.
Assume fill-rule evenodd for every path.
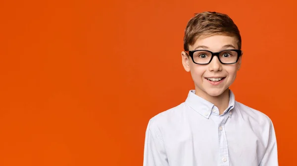
M 229 105 L 229 88 L 226 89 L 221 95 L 219 96 L 210 96 L 206 92 L 197 90 L 196 93 L 197 96 L 213 103 L 216 107 L 218 107 L 220 115 L 223 114 L 223 112 L 228 108 Z

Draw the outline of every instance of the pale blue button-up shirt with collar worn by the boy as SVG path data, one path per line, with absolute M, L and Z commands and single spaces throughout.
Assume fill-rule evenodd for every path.
M 229 94 L 221 115 L 191 90 L 185 102 L 151 118 L 144 166 L 278 166 L 270 118 Z

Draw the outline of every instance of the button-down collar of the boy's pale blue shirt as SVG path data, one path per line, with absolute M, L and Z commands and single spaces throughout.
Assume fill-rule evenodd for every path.
M 195 90 L 190 90 L 188 94 L 188 98 L 186 99 L 186 103 L 191 108 L 193 108 L 196 112 L 198 112 L 199 114 L 201 114 L 203 117 L 207 119 L 212 113 L 211 110 L 215 108 L 217 109 L 217 107 L 213 103 L 197 96 L 195 94 Z M 228 116 L 231 118 L 232 112 L 230 111 L 234 108 L 234 103 L 235 103 L 234 94 L 231 90 L 229 90 L 229 105 L 228 105 L 228 108 L 224 111 L 223 115 L 228 113 Z

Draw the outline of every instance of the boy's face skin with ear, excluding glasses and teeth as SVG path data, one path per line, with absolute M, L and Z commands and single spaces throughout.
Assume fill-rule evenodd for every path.
M 199 37 L 189 50 L 209 50 L 219 52 L 226 49 L 238 49 L 236 37 L 226 35 L 212 35 Z M 241 57 L 236 64 L 223 65 L 218 57 L 214 56 L 208 65 L 193 63 L 190 56 L 182 52 L 182 62 L 186 71 L 190 71 L 195 83 L 196 93 L 202 97 L 217 97 L 226 92 L 236 78 L 236 73 L 241 66 Z M 209 80 L 222 78 L 221 81 Z

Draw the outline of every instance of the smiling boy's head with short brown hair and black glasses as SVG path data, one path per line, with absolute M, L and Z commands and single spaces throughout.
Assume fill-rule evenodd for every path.
M 241 35 L 232 19 L 222 13 L 202 12 L 187 24 L 182 52 L 196 94 L 204 98 L 227 94 L 241 65 Z M 213 54 L 216 53 L 216 54 Z

